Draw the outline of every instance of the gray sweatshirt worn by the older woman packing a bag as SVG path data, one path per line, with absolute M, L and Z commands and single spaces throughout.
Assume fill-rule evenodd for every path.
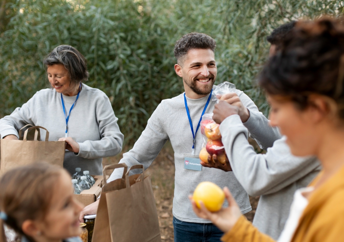
M 63 95 L 67 113 L 75 99 L 76 96 Z M 68 121 L 68 136 L 78 142 L 80 151 L 78 154 L 66 151 L 64 168 L 71 174 L 80 167 L 89 170 L 91 175 L 102 175 L 102 157 L 114 156 L 122 150 L 123 134 L 117 120 L 105 93 L 82 84 Z M 21 108 L 0 119 L 1 139 L 9 134 L 19 137 L 18 130 L 26 124 L 46 128 L 50 141 L 65 137 L 66 119 L 61 94 L 54 89 L 37 91 Z M 41 140 L 44 137 L 45 131 L 41 129 Z

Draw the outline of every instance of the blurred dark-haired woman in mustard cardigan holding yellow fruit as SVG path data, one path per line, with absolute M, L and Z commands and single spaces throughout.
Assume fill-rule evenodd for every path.
M 343 21 L 299 21 L 265 66 L 259 85 L 271 105 L 271 125 L 287 136 L 291 152 L 316 155 L 323 168 L 309 187 L 295 192 L 278 241 L 344 241 Z M 224 191 L 230 206 L 216 213 L 204 205 L 198 209 L 192 201 L 199 217 L 226 233 L 222 241 L 273 241 L 241 215 L 228 189 Z

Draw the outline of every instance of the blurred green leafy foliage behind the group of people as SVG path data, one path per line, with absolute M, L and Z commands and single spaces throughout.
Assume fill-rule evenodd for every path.
M 203 32 L 217 42 L 216 83 L 229 81 L 267 115 L 255 78 L 277 26 L 323 14 L 330 0 L 0 0 L 0 117 L 47 87 L 43 58 L 69 44 L 85 55 L 91 87 L 110 98 L 126 144 L 133 144 L 162 99 L 183 92 L 173 46 Z

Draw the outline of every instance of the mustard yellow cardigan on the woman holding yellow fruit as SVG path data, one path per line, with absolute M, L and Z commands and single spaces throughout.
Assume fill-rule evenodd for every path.
M 318 175 L 310 186 L 322 176 Z M 268 235 L 258 231 L 244 216 L 221 240 L 245 242 L 272 242 Z M 291 242 L 344 241 L 344 167 L 309 198 Z

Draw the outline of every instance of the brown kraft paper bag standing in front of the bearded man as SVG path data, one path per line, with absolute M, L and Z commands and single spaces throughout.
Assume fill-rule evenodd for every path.
M 150 176 L 144 176 L 143 165 L 127 171 L 124 163 L 105 166 L 124 167 L 120 179 L 106 183 L 101 193 L 92 242 L 161 242 L 159 219 Z M 129 176 L 132 169 L 142 174 Z

